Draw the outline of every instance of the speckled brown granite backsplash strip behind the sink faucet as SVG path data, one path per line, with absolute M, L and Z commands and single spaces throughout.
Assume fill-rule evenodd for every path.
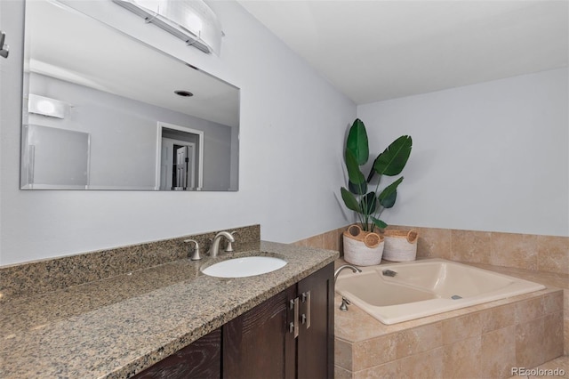
M 236 251 L 239 251 L 242 243 L 260 241 L 260 225 L 227 230 L 236 230 Z M 206 252 L 211 244 L 210 239 L 218 231 L 0 267 L 0 302 L 15 296 L 44 294 L 186 258 L 189 246 L 183 241 L 188 238 L 196 239 L 202 252 Z

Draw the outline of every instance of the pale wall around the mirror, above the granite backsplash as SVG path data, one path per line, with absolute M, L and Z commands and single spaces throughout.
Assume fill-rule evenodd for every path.
M 148 43 L 241 88 L 238 192 L 22 191 L 23 4 L 0 2 L 11 47 L 10 58 L 0 59 L 0 265 L 252 223 L 261 224 L 262 238 L 281 242 L 345 224 L 336 194 L 356 106 L 239 4 L 216 1 L 212 8 L 226 34 L 220 58 L 141 20 L 126 22 L 116 5 L 103 14 L 124 28 L 144 28 L 139 34 Z

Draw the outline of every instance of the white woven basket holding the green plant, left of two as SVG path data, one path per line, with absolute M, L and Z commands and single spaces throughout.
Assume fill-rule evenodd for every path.
M 358 225 L 349 226 L 343 233 L 344 260 L 357 266 L 373 266 L 381 263 L 383 237 L 362 230 Z

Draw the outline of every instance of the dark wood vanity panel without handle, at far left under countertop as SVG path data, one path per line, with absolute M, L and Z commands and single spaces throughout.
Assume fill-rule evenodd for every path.
M 136 379 L 220 378 L 221 329 L 148 367 Z

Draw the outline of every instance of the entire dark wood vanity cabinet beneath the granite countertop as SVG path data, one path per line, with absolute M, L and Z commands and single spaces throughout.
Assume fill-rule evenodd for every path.
M 333 377 L 333 263 L 136 378 Z

